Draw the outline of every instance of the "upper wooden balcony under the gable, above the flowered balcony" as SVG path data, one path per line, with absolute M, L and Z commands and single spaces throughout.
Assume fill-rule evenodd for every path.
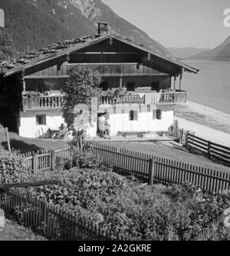
M 71 66 L 88 67 L 93 71 L 98 71 L 103 76 L 166 75 L 139 63 L 79 63 L 69 64 L 68 68 Z

